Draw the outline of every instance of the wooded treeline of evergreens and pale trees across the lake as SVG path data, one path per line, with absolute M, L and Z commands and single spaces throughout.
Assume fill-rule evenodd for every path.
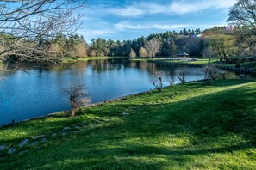
M 51 39 L 41 39 L 40 46 L 46 48 L 53 57 L 84 58 L 116 56 L 131 58 L 151 57 L 148 55 L 147 42 L 158 41 L 156 56 L 175 57 L 178 52 L 186 52 L 190 56 L 203 58 L 253 57 L 256 49 L 245 47 L 239 42 L 238 27 L 213 27 L 201 31 L 199 28 L 184 29 L 178 32 L 153 33 L 148 37 L 133 40 L 114 41 L 91 39 L 87 43 L 84 36 L 74 34 L 65 36 L 59 33 Z M 0 45 L 3 48 L 3 46 Z M 153 56 L 154 57 L 154 56 Z

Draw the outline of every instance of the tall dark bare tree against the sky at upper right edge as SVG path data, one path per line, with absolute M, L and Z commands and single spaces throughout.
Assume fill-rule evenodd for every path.
M 229 11 L 228 22 L 241 27 L 239 40 L 248 46 L 256 44 L 256 2 L 255 0 L 238 0 Z

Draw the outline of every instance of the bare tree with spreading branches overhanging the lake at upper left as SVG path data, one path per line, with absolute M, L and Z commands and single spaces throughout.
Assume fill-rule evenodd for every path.
M 74 33 L 82 15 L 74 10 L 87 6 L 87 0 L 3 0 L 0 2 L 0 60 L 16 56 L 20 61 L 52 62 L 42 39 L 58 33 Z

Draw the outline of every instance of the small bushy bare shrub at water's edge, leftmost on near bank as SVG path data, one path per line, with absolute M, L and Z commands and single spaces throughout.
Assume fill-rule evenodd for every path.
M 72 117 L 75 117 L 80 107 L 87 106 L 91 101 L 83 83 L 71 83 L 63 91 L 71 102 Z

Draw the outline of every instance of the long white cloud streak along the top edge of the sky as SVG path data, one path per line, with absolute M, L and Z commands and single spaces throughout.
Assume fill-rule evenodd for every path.
M 205 9 L 228 9 L 236 2 L 237 0 L 175 0 L 169 5 L 142 2 L 133 3 L 123 8 L 109 8 L 106 11 L 112 15 L 123 17 L 137 17 L 147 14 L 184 15 Z

